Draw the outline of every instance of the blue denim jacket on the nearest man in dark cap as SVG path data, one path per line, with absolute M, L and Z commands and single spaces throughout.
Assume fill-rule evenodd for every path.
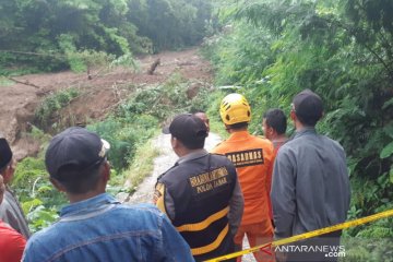
M 59 222 L 28 240 L 23 261 L 194 260 L 154 205 L 123 205 L 104 193 L 63 207 Z

